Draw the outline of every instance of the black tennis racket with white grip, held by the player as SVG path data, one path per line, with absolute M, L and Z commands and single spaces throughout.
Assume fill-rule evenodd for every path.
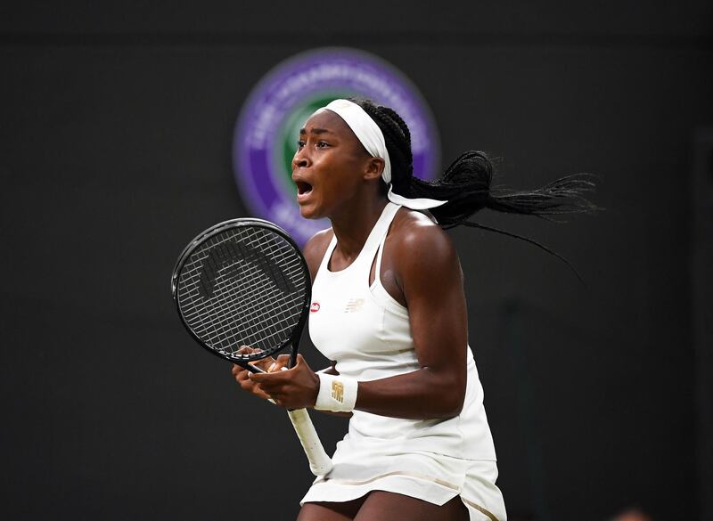
M 299 338 L 312 297 L 307 262 L 283 229 L 261 219 L 234 219 L 211 226 L 178 257 L 171 277 L 178 315 L 210 353 L 252 372 L 249 362 L 291 346 Z M 240 354 L 241 346 L 260 349 Z M 288 411 L 315 476 L 332 469 L 305 409 Z

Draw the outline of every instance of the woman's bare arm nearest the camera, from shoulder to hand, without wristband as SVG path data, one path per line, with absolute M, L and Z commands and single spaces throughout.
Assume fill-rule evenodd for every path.
M 406 419 L 457 415 L 465 395 L 467 316 L 452 241 L 425 217 L 406 214 L 389 234 L 381 271 L 389 293 L 408 307 L 421 369 L 359 382 L 355 408 Z M 279 372 L 250 379 L 280 395 L 285 407 L 314 407 L 319 381 L 307 364 Z

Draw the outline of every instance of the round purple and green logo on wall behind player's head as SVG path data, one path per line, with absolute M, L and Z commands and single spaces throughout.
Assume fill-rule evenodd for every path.
M 300 244 L 329 227 L 299 216 L 291 180 L 299 128 L 332 100 L 367 98 L 404 118 L 411 131 L 414 175 L 432 179 L 439 145 L 433 118 L 411 81 L 373 54 L 325 48 L 298 54 L 270 70 L 242 107 L 235 126 L 233 166 L 246 206 L 282 226 Z

